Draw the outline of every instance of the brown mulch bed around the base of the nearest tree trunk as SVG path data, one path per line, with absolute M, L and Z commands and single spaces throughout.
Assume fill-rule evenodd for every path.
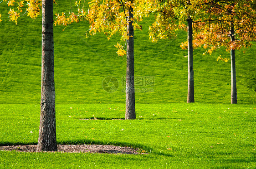
M 37 145 L 7 145 L 0 146 L 0 150 L 17 152 L 36 152 Z M 57 145 L 58 152 L 67 153 L 108 153 L 108 154 L 130 154 L 141 155 L 148 154 L 138 148 L 120 147 L 115 145 Z

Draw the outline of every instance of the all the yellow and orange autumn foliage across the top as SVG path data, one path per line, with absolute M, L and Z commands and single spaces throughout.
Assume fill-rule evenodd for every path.
M 35 19 L 41 10 L 41 0 L 3 0 L 10 10 L 10 21 L 17 24 L 17 19 L 27 15 Z M 55 3 L 55 2 L 54 2 Z M 251 46 L 255 41 L 256 2 L 254 0 L 91 0 L 89 9 L 86 1 L 75 1 L 73 9 L 66 14 L 56 14 L 55 25 L 67 26 L 73 22 L 88 20 L 90 28 L 87 35 L 103 32 L 107 38 L 120 34 L 122 40 L 127 36 L 127 15 L 133 7 L 134 29 L 142 29 L 139 22 L 149 14 L 155 15 L 154 23 L 149 26 L 149 38 L 152 42 L 159 39 L 175 38 L 175 32 L 186 29 L 188 16 L 193 20 L 193 48 L 203 47 L 207 53 L 225 46 L 240 49 Z M 1 21 L 1 14 L 0 14 Z M 234 24 L 236 40 L 230 41 L 230 23 Z M 123 45 L 116 45 L 118 55 L 123 56 Z M 187 48 L 187 42 L 180 45 Z

